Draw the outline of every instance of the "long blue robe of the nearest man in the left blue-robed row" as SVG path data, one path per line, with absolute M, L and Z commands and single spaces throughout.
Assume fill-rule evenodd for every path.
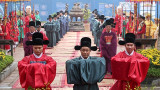
M 49 39 L 48 47 L 53 47 L 56 45 L 56 29 L 55 24 L 52 22 L 47 22 L 44 24 L 44 29 L 46 31 L 46 35 Z

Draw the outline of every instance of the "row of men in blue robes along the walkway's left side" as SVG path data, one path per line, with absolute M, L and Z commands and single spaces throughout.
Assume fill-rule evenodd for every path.
M 69 31 L 69 16 L 67 12 L 62 16 L 57 13 L 53 17 L 49 15 L 47 20 L 48 22 L 42 27 L 50 42 L 48 47 L 53 47 Z

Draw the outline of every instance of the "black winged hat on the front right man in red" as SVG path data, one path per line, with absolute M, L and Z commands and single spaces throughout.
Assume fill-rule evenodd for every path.
M 120 40 L 119 45 L 125 45 L 126 43 L 134 43 L 136 46 L 141 46 L 140 42 L 135 42 L 136 36 L 133 33 L 127 33 L 124 41 Z

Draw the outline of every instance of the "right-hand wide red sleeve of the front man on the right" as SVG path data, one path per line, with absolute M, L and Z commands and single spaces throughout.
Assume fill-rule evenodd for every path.
M 129 79 L 141 83 L 147 75 L 149 65 L 150 61 L 148 58 L 142 55 L 138 55 L 137 58 L 132 58 L 128 73 Z

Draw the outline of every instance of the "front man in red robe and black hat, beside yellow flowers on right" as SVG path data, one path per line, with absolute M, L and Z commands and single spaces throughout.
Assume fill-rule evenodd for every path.
M 112 77 L 116 83 L 110 90 L 140 90 L 140 83 L 145 79 L 150 61 L 134 50 L 140 43 L 135 42 L 135 35 L 127 33 L 124 41 L 126 50 L 111 59 Z

